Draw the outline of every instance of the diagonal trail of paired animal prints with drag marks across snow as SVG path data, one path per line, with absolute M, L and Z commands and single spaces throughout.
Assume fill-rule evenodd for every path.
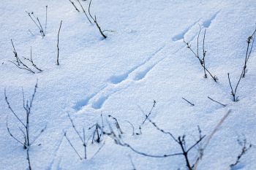
M 203 23 L 208 22 L 209 25 L 207 25 L 207 26 L 210 26 L 212 20 L 214 20 L 214 18 L 216 18 L 219 11 L 216 12 L 210 18 L 210 20 L 206 20 Z M 182 31 L 181 34 L 178 34 L 180 36 L 174 36 L 174 37 L 178 38 L 176 41 L 183 39 L 184 35 L 187 34 L 187 32 L 193 26 L 195 26 L 199 22 L 199 20 L 197 20 L 195 23 L 193 23 L 188 28 L 186 28 L 185 31 Z M 196 36 L 196 34 L 195 34 L 195 36 Z M 191 42 L 193 39 L 195 39 L 195 36 L 192 36 L 192 39 L 190 39 L 189 42 Z M 151 56 L 146 61 L 143 61 L 143 63 L 140 63 L 138 66 L 134 66 L 132 69 L 129 69 L 128 72 L 110 77 L 108 80 L 110 82 L 110 84 L 105 85 L 97 93 L 93 93 L 91 96 L 84 99 L 82 102 L 79 101 L 78 104 L 76 104 L 78 106 L 78 107 L 76 107 L 76 110 L 78 112 L 80 112 L 83 110 L 84 107 L 91 107 L 93 109 L 101 109 L 103 104 L 105 103 L 105 101 L 107 101 L 108 98 L 113 95 L 113 93 L 116 93 L 120 90 L 124 90 L 125 88 L 128 88 L 129 85 L 131 85 L 132 83 L 134 83 L 136 81 L 143 80 L 146 77 L 146 75 L 148 74 L 148 72 L 150 72 L 152 69 L 154 69 L 154 67 L 157 66 L 158 63 L 160 63 L 165 58 L 167 58 L 163 55 L 159 55 L 159 57 L 154 58 L 154 56 L 159 54 L 159 52 L 162 51 L 164 49 L 164 47 L 165 47 L 165 45 L 163 45 L 162 47 L 159 47 L 159 49 L 154 51 L 154 53 L 152 53 Z M 183 45 L 180 48 L 178 48 L 178 50 L 174 51 L 172 53 L 172 55 L 178 53 L 178 51 L 181 50 L 183 47 L 185 47 L 185 46 Z M 153 61 L 154 59 L 156 61 Z

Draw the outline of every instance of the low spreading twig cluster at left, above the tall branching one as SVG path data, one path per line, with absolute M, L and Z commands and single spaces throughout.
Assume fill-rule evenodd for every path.
M 11 42 L 12 42 L 12 39 L 11 39 Z M 15 66 L 17 66 L 19 69 L 25 69 L 25 70 L 35 74 L 36 72 L 33 69 L 31 69 L 26 63 L 24 63 L 24 61 L 29 61 L 29 63 L 34 67 L 34 69 L 36 69 L 39 72 L 42 72 L 42 69 L 39 69 L 37 67 L 37 65 L 33 61 L 33 58 L 32 58 L 32 47 L 30 48 L 30 58 L 24 58 L 23 57 L 24 61 L 20 60 L 20 57 L 18 56 L 18 53 L 15 50 L 13 42 L 12 42 L 12 47 L 13 47 L 13 53 L 15 55 L 14 56 L 15 57 L 15 61 L 9 61 L 10 63 L 15 64 Z

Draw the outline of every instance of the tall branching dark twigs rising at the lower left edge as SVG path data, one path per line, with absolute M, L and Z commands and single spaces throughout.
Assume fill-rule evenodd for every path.
M 8 101 L 8 98 L 7 98 L 6 90 L 4 89 L 4 96 L 5 96 L 5 101 L 7 103 L 7 106 L 10 109 L 10 111 L 12 112 L 12 115 L 15 116 L 15 118 L 18 120 L 18 122 L 21 125 L 18 128 L 19 128 L 19 130 L 20 130 L 20 132 L 23 136 L 23 140 L 19 139 L 18 136 L 14 136 L 12 134 L 12 132 L 10 131 L 10 127 L 8 125 L 8 120 L 7 120 L 7 131 L 10 134 L 10 136 L 12 137 L 12 139 L 15 139 L 16 142 L 22 144 L 24 150 L 26 150 L 26 158 L 27 158 L 28 163 L 29 163 L 29 170 L 31 170 L 31 159 L 29 157 L 29 149 L 30 149 L 31 145 L 34 144 L 34 142 L 39 138 L 39 136 L 41 136 L 41 134 L 45 131 L 45 128 L 46 128 L 46 126 L 45 126 L 45 128 L 42 128 L 42 130 L 39 132 L 39 134 L 37 134 L 37 136 L 35 136 L 34 139 L 31 140 L 31 138 L 30 138 L 31 135 L 29 133 L 29 130 L 30 130 L 30 115 L 31 115 L 31 108 L 33 106 L 34 96 L 35 96 L 36 92 L 37 92 L 37 83 L 34 86 L 34 93 L 31 96 L 31 99 L 28 99 L 28 100 L 25 101 L 25 96 L 24 96 L 24 93 L 23 93 L 23 90 L 22 90 L 23 109 L 26 112 L 26 120 L 24 122 L 24 120 L 22 120 L 18 116 L 18 114 L 14 111 L 14 109 L 12 109 L 12 107 L 10 105 L 10 102 Z

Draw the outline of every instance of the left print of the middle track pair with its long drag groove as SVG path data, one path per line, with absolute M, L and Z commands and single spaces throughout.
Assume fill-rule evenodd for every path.
M 162 47 L 160 47 L 159 49 L 157 49 L 154 53 L 151 54 L 151 56 L 149 58 L 146 59 L 146 61 L 144 61 L 143 63 L 140 63 L 138 66 L 133 67 L 132 69 L 129 69 L 128 72 L 121 74 L 121 75 L 117 75 L 117 76 L 112 76 L 110 77 L 109 81 L 113 84 L 118 84 L 124 80 L 127 79 L 127 77 L 129 77 L 129 74 L 131 74 L 132 72 L 134 72 L 136 69 L 138 69 L 140 66 L 145 65 L 148 61 L 151 60 L 151 58 L 154 57 L 154 55 L 157 55 L 157 53 L 159 53 L 159 51 L 161 51 L 163 48 L 165 47 L 165 45 L 163 45 Z

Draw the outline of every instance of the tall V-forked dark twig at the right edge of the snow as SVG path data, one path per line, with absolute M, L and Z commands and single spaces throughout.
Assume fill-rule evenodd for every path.
M 238 89 L 238 85 L 241 82 L 242 77 L 245 77 L 247 63 L 249 61 L 249 57 L 252 53 L 252 47 L 253 47 L 254 42 L 255 42 L 255 34 L 256 34 L 256 28 L 255 28 L 255 31 L 253 31 L 252 35 L 247 38 L 247 41 L 246 41 L 247 42 L 247 47 L 246 47 L 246 55 L 245 55 L 245 59 L 244 59 L 244 66 L 243 66 L 243 70 L 241 72 L 241 75 L 238 79 L 238 82 L 236 83 L 236 88 L 233 88 L 233 85 L 230 81 L 230 74 L 227 73 L 227 78 L 228 78 L 228 82 L 230 84 L 231 95 L 233 96 L 233 101 L 238 101 L 238 96 L 236 96 L 236 91 Z

